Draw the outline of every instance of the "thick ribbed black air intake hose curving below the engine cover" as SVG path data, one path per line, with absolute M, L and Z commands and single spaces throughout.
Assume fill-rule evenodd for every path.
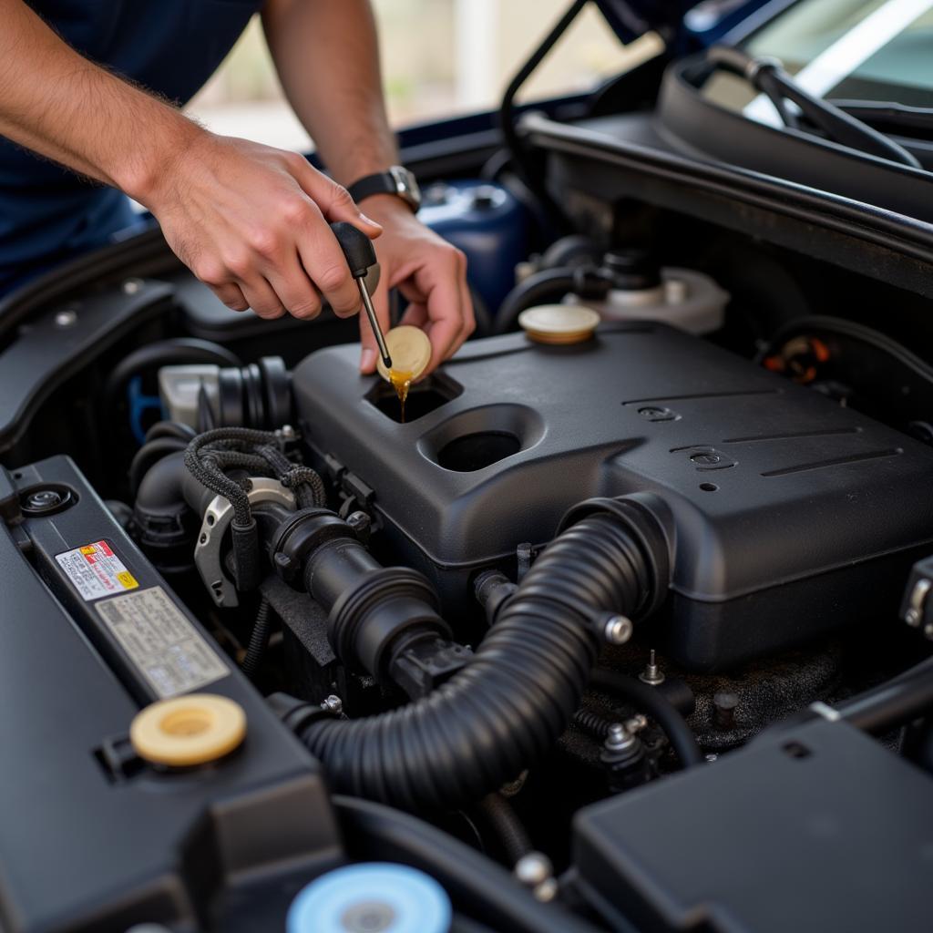
M 478 801 L 553 745 L 600 647 L 600 613 L 635 618 L 669 583 L 661 524 L 634 499 L 589 504 L 536 560 L 465 668 L 378 716 L 293 719 L 331 787 L 416 810 Z M 329 608 L 329 606 L 327 606 Z

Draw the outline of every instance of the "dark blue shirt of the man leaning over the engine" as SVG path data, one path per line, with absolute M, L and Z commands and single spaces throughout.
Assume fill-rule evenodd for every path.
M 262 6 L 262 0 L 28 2 L 91 61 L 178 104 L 214 74 Z M 0 294 L 110 242 L 134 223 L 130 203 L 114 188 L 83 180 L 0 136 Z

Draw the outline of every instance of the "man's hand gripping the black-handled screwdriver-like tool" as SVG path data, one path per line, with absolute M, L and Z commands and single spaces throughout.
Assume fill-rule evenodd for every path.
M 139 200 L 190 270 L 234 311 L 313 318 L 323 295 L 340 317 L 359 292 L 328 221 L 371 239 L 378 224 L 294 152 L 203 132 Z

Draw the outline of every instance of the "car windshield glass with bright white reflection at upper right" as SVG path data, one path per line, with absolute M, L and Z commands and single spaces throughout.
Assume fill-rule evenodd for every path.
M 933 0 L 801 0 L 743 48 L 780 59 L 816 97 L 933 107 Z M 717 74 L 704 91 L 779 123 L 771 102 L 739 78 Z

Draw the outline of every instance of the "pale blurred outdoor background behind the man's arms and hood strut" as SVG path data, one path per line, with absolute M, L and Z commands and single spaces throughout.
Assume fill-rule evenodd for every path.
M 493 109 L 566 0 L 373 0 L 383 83 L 393 125 Z M 592 7 L 578 17 L 522 91 L 520 100 L 591 88 L 631 67 L 660 42 L 622 47 Z M 312 147 L 285 103 L 258 18 L 188 106 L 209 129 L 270 146 Z

